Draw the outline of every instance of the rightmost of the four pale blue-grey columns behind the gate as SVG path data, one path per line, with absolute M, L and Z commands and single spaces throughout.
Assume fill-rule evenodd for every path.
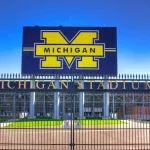
M 108 80 L 104 80 L 104 87 L 105 89 L 109 89 Z M 104 118 L 108 118 L 109 117 L 109 92 L 104 92 L 103 100 L 104 100 Z

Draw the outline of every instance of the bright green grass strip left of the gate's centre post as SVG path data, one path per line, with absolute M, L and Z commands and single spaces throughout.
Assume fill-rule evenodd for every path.
M 48 127 L 58 126 L 63 123 L 63 120 L 52 119 L 22 119 L 12 122 L 7 128 L 23 128 L 23 127 Z

